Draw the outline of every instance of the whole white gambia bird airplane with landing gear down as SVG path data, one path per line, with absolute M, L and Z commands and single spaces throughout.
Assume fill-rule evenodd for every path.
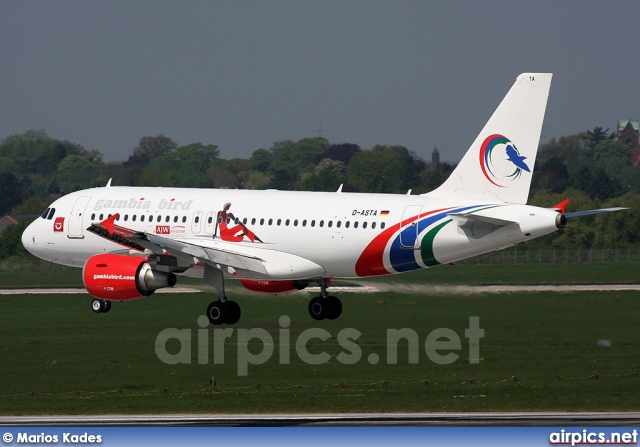
M 524 73 L 454 169 L 421 195 L 111 186 L 67 194 L 22 235 L 35 256 L 82 268 L 91 307 L 147 297 L 177 277 L 199 277 L 218 298 L 206 315 L 235 324 L 225 282 L 285 293 L 319 283 L 315 320 L 336 319 L 332 278 L 392 275 L 449 264 L 552 233 L 573 215 L 566 201 L 527 205 L 551 86 Z M 517 148 L 517 149 L 516 149 Z M 524 160 L 530 161 L 527 165 Z M 515 167 L 515 171 L 514 171 Z

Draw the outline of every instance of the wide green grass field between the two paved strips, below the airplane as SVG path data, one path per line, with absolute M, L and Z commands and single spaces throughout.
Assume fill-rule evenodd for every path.
M 445 269 L 446 267 L 442 267 Z M 402 276 L 400 276 L 402 277 Z M 483 295 L 340 294 L 339 320 L 312 321 L 308 294 L 276 297 L 230 292 L 243 316 L 223 344 L 213 327 L 197 318 L 209 294 L 156 294 L 115 303 L 108 314 L 93 314 L 88 295 L 0 296 L 0 413 L 82 414 L 158 412 L 368 412 L 368 411 L 631 411 L 640 408 L 640 333 L 637 292 L 514 293 Z M 279 318 L 291 319 L 283 329 Z M 480 363 L 469 363 L 464 331 L 478 316 L 485 336 Z M 166 364 L 155 342 L 166 328 L 191 336 L 189 364 Z M 269 361 L 238 375 L 241 333 L 260 328 L 275 343 Z M 300 360 L 295 341 L 308 329 L 331 335 L 306 344 L 328 361 Z M 418 336 L 419 359 L 399 345 L 398 364 L 387 364 L 387 329 L 409 328 Z M 450 328 L 461 339 L 459 357 L 439 365 L 425 354 L 429 333 Z M 361 335 L 355 364 L 338 355 L 357 348 L 337 340 L 346 330 Z M 201 332 L 198 332 L 201 331 Z M 289 334 L 289 343 L 283 341 Z M 264 335 L 264 333 L 263 333 Z M 209 361 L 200 364 L 200 347 Z M 352 335 L 352 339 L 355 336 Z M 597 341 L 612 341 L 601 347 Z M 224 346 L 224 364 L 214 354 Z M 347 349 L 348 348 L 348 349 Z M 176 340 L 166 344 L 178 354 Z M 282 350 L 290 363 L 281 364 Z M 441 354 L 449 350 L 440 351 Z M 200 352 L 202 353 L 202 352 Z M 369 355 L 377 354 L 373 365 Z M 357 356 L 356 356 L 357 357 Z M 352 357 L 355 358 L 355 357 Z M 216 392 L 208 390 L 215 376 Z

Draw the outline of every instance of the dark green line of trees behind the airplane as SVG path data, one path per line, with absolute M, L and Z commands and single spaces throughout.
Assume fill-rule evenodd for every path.
M 596 127 L 543 144 L 529 203 L 551 207 L 571 198 L 569 211 L 632 209 L 572 220 L 563 232 L 529 246 L 640 244 L 638 168 L 631 164 L 629 147 L 613 137 L 608 129 Z M 44 130 L 28 130 L 0 140 L 0 216 L 39 214 L 61 195 L 104 186 L 110 178 L 114 185 L 129 186 L 335 191 L 342 184 L 345 192 L 411 189 L 421 194 L 439 186 L 454 168 L 449 163 L 435 166 L 404 146 L 363 149 L 353 143 L 331 144 L 322 137 L 277 141 L 249 158 L 224 159 L 214 144 L 179 145 L 165 135 L 144 136 L 125 161 L 105 162 L 99 151 L 51 138 Z M 11 235 L 18 230 L 0 234 L 0 258 L 24 254 L 19 247 L 8 248 L 15 244 Z

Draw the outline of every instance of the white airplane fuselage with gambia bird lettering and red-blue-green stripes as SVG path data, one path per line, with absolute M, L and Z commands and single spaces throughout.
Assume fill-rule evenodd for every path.
M 228 203 L 226 215 L 233 217 L 223 223 L 219 216 Z M 365 277 L 431 267 L 553 232 L 558 216 L 546 208 L 429 195 L 147 187 L 83 190 L 50 208 L 55 211 L 23 234 L 25 247 L 42 259 L 82 267 L 95 254 L 129 252 L 86 230 L 118 213 L 122 227 L 258 258 L 266 275 L 237 275 L 254 279 Z M 452 216 L 476 212 L 510 223 L 464 224 Z M 194 262 L 184 274 L 201 276 L 202 268 Z

